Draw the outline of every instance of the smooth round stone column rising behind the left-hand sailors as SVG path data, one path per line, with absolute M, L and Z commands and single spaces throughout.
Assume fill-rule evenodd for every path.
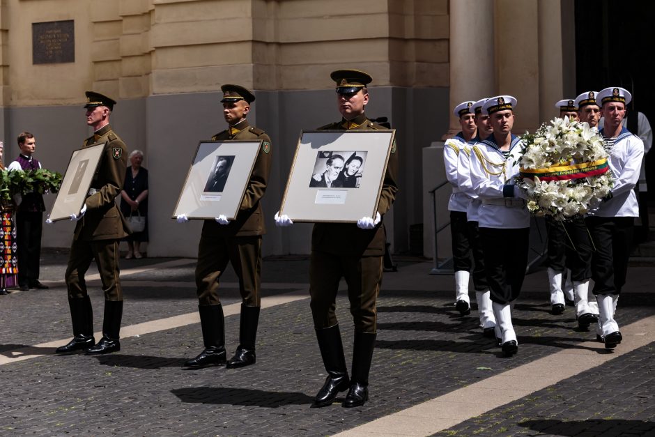
M 452 109 L 465 100 L 495 95 L 493 0 L 450 2 L 450 126 L 444 139 L 460 130 Z

